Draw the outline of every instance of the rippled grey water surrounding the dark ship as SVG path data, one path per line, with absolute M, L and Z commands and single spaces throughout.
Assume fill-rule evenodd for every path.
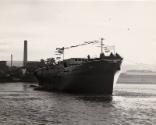
M 155 125 L 156 85 L 116 84 L 112 97 L 0 84 L 0 125 Z

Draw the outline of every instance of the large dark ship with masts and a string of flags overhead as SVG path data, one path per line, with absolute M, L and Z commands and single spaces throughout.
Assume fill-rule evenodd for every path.
M 101 43 L 99 58 L 90 58 L 88 55 L 87 58 L 63 59 L 57 64 L 36 70 L 34 74 L 39 81 L 39 86 L 51 91 L 111 95 L 114 76 L 120 70 L 123 58 L 112 52 L 106 56 L 103 52 L 106 47 L 102 38 L 100 41 L 90 41 L 80 45 L 98 42 Z M 71 46 L 71 48 L 77 46 L 79 45 Z M 66 47 L 56 50 L 58 53 L 64 54 L 64 49 Z

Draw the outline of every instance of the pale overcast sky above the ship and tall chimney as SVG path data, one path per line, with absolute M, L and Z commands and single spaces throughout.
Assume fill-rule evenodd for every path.
M 0 0 L 0 60 L 54 56 L 56 47 L 100 40 L 127 63 L 156 64 L 156 2 Z M 65 51 L 65 58 L 99 56 L 98 45 Z

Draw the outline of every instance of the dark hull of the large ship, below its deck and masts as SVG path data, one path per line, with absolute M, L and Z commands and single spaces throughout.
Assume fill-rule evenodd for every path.
M 96 60 L 66 68 L 36 72 L 40 86 L 55 91 L 84 94 L 113 92 L 114 75 L 120 70 L 121 60 Z

